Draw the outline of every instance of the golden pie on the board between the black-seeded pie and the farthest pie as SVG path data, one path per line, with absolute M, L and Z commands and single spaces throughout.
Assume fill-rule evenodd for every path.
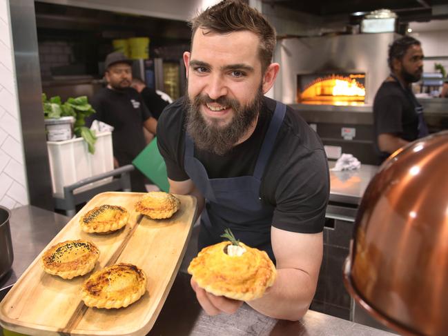
M 129 213 L 121 206 L 104 204 L 89 210 L 81 219 L 81 229 L 86 233 L 106 233 L 119 230 L 128 223 Z

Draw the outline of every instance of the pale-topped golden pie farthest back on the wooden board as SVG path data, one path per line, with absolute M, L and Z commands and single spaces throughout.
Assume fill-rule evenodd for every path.
M 165 219 L 173 216 L 179 206 L 179 199 L 168 192 L 151 191 L 137 201 L 135 211 L 152 219 Z

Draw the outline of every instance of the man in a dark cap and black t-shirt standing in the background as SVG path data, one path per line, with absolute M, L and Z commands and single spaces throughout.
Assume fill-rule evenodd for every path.
M 141 152 L 146 141 L 143 128 L 155 135 L 157 120 L 145 106 L 139 93 L 130 87 L 132 61 L 121 52 L 112 52 L 106 57 L 107 86 L 92 98 L 96 113 L 90 118 L 113 126 L 113 153 L 115 167 L 131 164 Z M 146 192 L 145 177 L 139 170 L 130 174 L 131 188 L 135 192 Z

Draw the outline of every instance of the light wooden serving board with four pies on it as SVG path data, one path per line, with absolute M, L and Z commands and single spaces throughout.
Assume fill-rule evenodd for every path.
M 86 239 L 100 250 L 92 272 L 73 279 L 47 274 L 41 255 L 32 262 L 0 303 L 0 324 L 27 335 L 145 335 L 153 327 L 184 256 L 196 212 L 195 197 L 176 195 L 180 208 L 170 219 L 149 219 L 134 210 L 137 192 L 104 192 L 90 199 L 44 250 L 60 241 Z M 116 233 L 84 233 L 79 218 L 102 204 L 123 206 L 128 224 Z M 45 225 L 45 223 L 42 223 Z M 142 268 L 146 293 L 126 308 L 88 308 L 81 285 L 95 271 L 125 262 Z

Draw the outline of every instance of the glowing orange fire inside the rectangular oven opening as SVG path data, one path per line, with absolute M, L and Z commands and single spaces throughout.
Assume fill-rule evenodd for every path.
M 365 72 L 321 72 L 297 76 L 297 102 L 363 105 Z

